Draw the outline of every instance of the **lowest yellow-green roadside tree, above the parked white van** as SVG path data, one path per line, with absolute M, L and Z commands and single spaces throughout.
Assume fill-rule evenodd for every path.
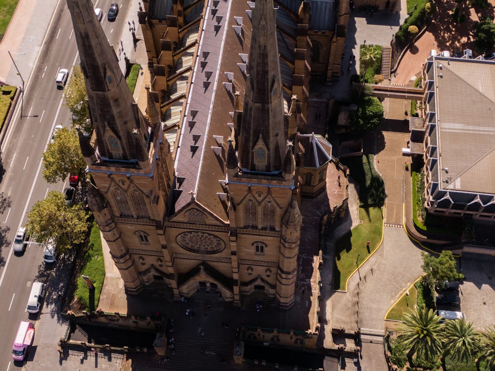
M 88 231 L 88 215 L 81 203 L 68 206 L 62 193 L 51 191 L 28 212 L 28 234 L 43 244 L 53 243 L 59 253 L 72 244 L 84 241 Z

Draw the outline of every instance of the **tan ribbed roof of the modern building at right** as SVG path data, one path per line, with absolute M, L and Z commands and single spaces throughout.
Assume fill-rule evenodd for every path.
M 435 57 L 434 68 L 442 188 L 494 194 L 495 62 Z

